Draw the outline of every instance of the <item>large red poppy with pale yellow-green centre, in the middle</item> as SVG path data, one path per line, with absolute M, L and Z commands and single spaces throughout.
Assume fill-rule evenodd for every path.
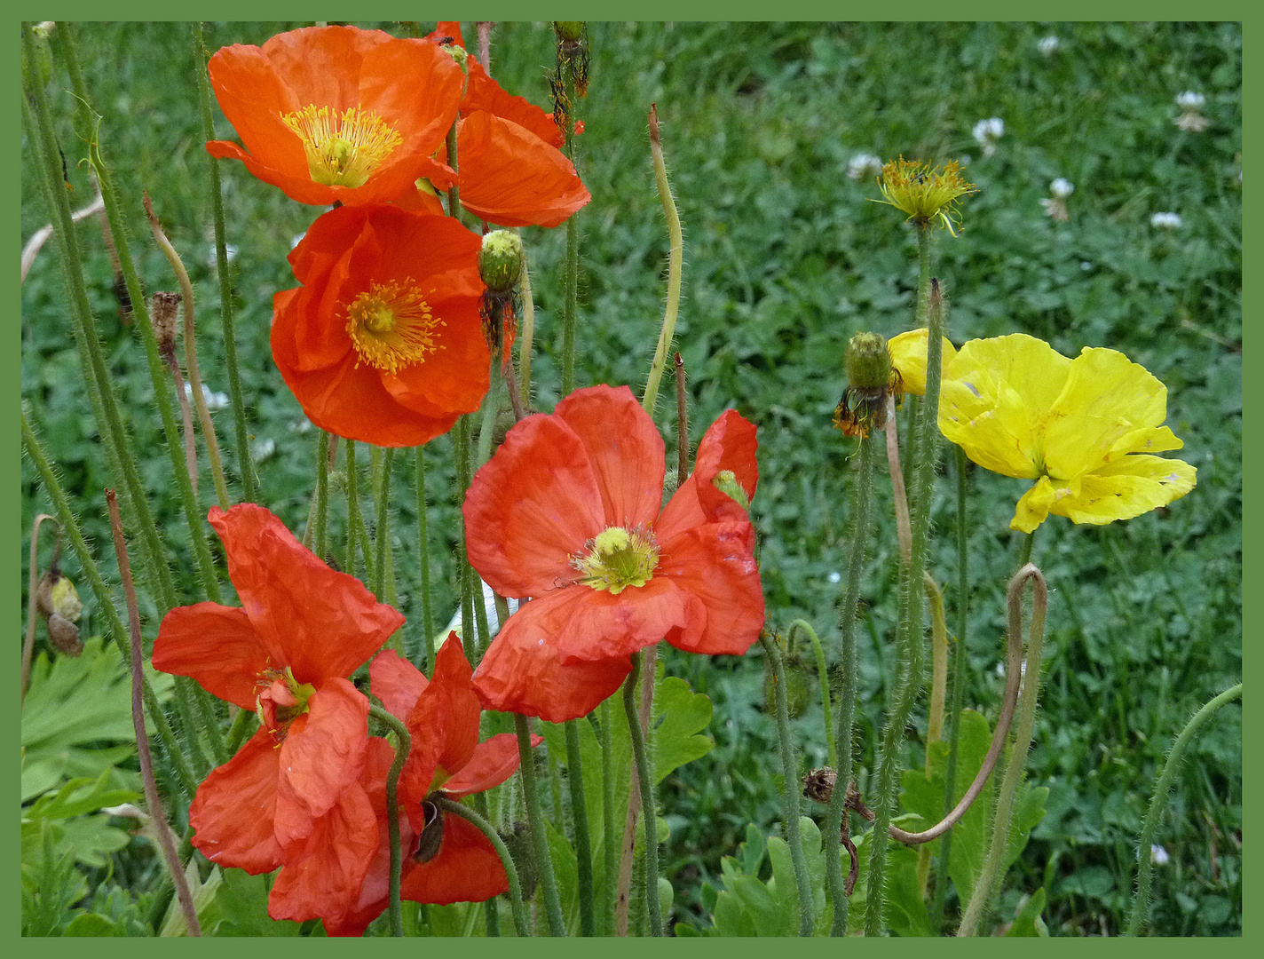
M 662 438 L 626 386 L 578 390 L 509 430 L 465 497 L 469 558 L 502 596 L 533 598 L 479 664 L 484 708 L 583 716 L 660 639 L 744 653 L 763 625 L 755 531 L 717 482 L 750 501 L 755 449 L 755 426 L 727 411 L 660 511 Z

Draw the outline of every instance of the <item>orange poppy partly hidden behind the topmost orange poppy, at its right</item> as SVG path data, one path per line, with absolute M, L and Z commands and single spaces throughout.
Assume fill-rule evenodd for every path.
M 465 46 L 459 23 L 440 23 L 427 39 Z M 456 124 L 461 205 L 501 226 L 557 226 L 593 197 L 557 149 L 562 135 L 552 114 L 506 92 L 474 57 L 466 62 L 469 84 Z M 423 195 L 406 202 L 437 205 Z

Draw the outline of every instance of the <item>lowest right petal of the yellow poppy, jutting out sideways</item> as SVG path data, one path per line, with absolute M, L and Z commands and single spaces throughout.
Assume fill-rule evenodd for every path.
M 1082 477 L 1079 493 L 1055 500 L 1049 512 L 1097 526 L 1129 520 L 1184 496 L 1194 487 L 1196 474 L 1181 459 L 1124 457 Z

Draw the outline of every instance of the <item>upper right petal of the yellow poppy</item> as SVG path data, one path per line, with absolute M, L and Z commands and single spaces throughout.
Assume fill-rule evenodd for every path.
M 1122 453 L 1179 449 L 1170 445 L 1179 444 L 1170 430 L 1155 431 L 1167 418 L 1167 387 L 1145 367 L 1114 349 L 1085 348 L 1071 361 L 1062 393 L 1050 404 L 1044 439 L 1049 473 L 1078 476 Z

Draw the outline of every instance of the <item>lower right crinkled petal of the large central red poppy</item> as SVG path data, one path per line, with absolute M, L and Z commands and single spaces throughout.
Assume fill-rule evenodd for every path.
M 748 521 L 713 523 L 662 544 L 655 578 L 667 578 L 702 607 L 666 640 L 689 653 L 742 655 L 763 626 L 763 591 Z

